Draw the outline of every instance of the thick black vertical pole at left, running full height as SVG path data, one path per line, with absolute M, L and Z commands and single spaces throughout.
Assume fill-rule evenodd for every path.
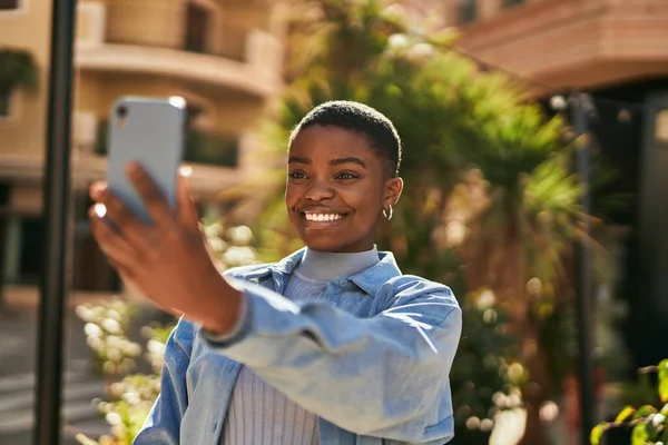
M 67 248 L 75 8 L 76 0 L 52 2 L 51 71 L 43 181 L 47 234 L 37 355 L 37 445 L 58 445 L 61 442 L 63 317 L 69 270 Z

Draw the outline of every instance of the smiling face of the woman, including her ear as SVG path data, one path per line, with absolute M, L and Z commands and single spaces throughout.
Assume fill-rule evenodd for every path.
M 285 202 L 292 225 L 314 250 L 373 248 L 383 208 L 403 182 L 389 178 L 365 136 L 336 126 L 311 126 L 293 140 Z

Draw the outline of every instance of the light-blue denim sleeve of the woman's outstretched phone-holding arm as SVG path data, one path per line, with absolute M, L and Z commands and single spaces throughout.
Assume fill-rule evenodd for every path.
M 209 346 L 250 367 L 305 409 L 360 435 L 409 443 L 453 435 L 449 374 L 461 310 L 452 291 L 401 276 L 358 318 L 326 303 L 295 304 L 244 285 L 248 320 L 235 342 Z

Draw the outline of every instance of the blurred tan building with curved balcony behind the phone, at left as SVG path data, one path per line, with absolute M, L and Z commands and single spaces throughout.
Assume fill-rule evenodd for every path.
M 32 55 L 39 89 L 0 89 L 0 245 L 4 296 L 32 300 L 42 264 L 41 182 L 51 0 L 0 0 L 0 48 Z M 188 101 L 185 161 L 200 210 L 257 168 L 257 118 L 282 86 L 281 6 L 262 0 L 80 0 L 77 10 L 73 288 L 119 289 L 89 231 L 88 185 L 105 177 L 107 119 L 125 95 Z M 2 69 L 2 67 L 0 67 Z M 1 78 L 1 77 L 0 77 Z

